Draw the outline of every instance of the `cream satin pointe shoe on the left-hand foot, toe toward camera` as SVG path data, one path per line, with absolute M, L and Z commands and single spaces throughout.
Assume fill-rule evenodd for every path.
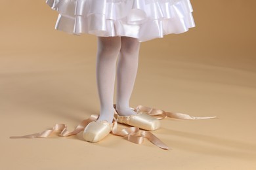
M 83 139 L 87 142 L 96 143 L 112 131 L 113 124 L 108 121 L 90 122 L 83 131 Z

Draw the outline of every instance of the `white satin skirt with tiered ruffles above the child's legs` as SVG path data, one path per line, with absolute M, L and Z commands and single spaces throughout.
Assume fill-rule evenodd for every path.
M 140 42 L 194 27 L 189 0 L 47 0 L 58 11 L 55 29 Z

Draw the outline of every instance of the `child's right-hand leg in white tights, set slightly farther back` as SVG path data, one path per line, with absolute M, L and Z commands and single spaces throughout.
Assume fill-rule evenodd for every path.
M 135 114 L 129 108 L 139 63 L 140 42 L 131 37 L 121 37 L 121 50 L 117 61 L 116 110 L 119 115 Z

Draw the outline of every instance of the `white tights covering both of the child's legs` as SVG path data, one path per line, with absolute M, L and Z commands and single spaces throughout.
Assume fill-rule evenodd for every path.
M 129 100 L 135 84 L 139 62 L 140 42 L 131 37 L 98 37 L 96 81 L 100 99 L 97 121 L 113 121 L 113 95 L 117 61 L 116 110 L 119 115 L 135 114 Z

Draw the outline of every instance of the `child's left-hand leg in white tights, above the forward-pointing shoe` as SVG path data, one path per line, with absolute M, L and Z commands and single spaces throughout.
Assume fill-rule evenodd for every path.
M 112 122 L 113 95 L 116 77 L 116 60 L 121 48 L 121 37 L 98 37 L 96 81 L 100 98 L 98 121 Z

